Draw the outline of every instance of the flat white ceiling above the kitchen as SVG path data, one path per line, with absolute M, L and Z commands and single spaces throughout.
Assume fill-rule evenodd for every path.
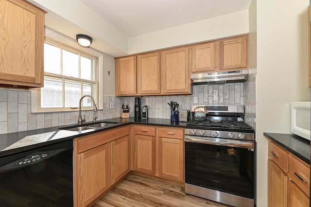
M 251 0 L 80 0 L 127 37 L 249 8 Z

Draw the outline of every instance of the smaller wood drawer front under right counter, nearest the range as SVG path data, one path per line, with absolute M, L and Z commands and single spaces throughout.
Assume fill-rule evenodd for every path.
M 285 173 L 288 173 L 288 156 L 289 154 L 285 150 L 277 146 L 274 142 L 269 141 L 268 158 L 273 160 Z

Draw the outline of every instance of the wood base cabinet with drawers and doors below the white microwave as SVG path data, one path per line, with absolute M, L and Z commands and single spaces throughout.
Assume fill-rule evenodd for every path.
M 309 207 L 310 165 L 268 143 L 269 207 Z

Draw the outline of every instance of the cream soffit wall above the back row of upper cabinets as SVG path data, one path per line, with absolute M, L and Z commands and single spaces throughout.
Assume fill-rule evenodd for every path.
M 248 10 L 131 37 L 128 53 L 153 51 L 248 33 Z

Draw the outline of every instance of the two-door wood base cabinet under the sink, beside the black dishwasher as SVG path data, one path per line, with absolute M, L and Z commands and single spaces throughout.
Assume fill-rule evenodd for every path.
M 75 207 L 90 205 L 130 171 L 129 135 L 130 126 L 124 126 L 74 139 Z

